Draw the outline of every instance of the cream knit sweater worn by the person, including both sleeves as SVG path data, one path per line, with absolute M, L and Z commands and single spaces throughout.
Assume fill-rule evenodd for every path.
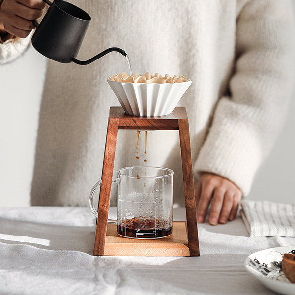
M 289 1 L 71 0 L 92 20 L 78 59 L 117 46 L 133 72 L 184 75 L 195 176 L 227 177 L 247 195 L 273 144 L 291 94 L 294 25 Z M 16 58 L 30 38 L 0 45 L 0 62 Z M 107 77 L 127 71 L 111 53 L 87 66 L 49 60 L 40 109 L 32 205 L 87 206 L 101 177 L 110 106 Z M 118 132 L 115 171 L 135 159 L 136 131 Z M 140 138 L 143 153 L 144 136 Z M 175 172 L 183 205 L 177 131 L 148 132 L 148 162 Z M 113 189 L 115 194 L 115 188 Z M 114 197 L 112 199 L 114 204 Z

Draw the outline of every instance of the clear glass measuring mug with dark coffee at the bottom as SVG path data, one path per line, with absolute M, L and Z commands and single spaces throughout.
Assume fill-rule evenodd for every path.
M 93 196 L 102 180 L 92 188 L 89 204 L 93 214 Z M 172 234 L 173 171 L 162 167 L 126 167 L 118 171 L 117 225 L 120 236 L 155 239 Z M 99 201 L 98 201 L 99 204 Z

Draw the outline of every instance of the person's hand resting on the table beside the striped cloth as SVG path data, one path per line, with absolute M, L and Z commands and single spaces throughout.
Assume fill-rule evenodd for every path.
M 211 203 L 209 223 L 227 223 L 236 217 L 241 190 L 232 181 L 212 174 L 203 173 L 196 184 L 198 222 L 205 221 Z

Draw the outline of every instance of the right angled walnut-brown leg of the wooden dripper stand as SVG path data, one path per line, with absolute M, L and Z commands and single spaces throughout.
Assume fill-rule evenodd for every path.
M 200 250 L 197 226 L 196 197 L 188 119 L 178 119 L 178 125 L 189 254 L 190 256 L 199 256 Z

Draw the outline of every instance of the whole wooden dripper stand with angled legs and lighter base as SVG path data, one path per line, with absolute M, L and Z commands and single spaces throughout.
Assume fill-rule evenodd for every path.
M 173 222 L 171 236 L 152 240 L 124 238 L 117 235 L 115 224 L 108 224 L 118 129 L 179 130 L 187 221 Z M 176 107 L 171 114 L 158 117 L 131 116 L 122 107 L 110 108 L 98 213 L 94 255 L 200 255 L 189 125 L 184 107 Z

